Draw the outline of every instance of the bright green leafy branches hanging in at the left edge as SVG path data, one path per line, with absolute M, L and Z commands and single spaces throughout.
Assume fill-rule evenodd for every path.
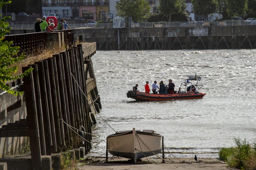
M 11 1 L 0 1 L 0 7 L 10 3 Z M 14 95 L 21 95 L 22 92 L 11 89 L 9 86 L 6 85 L 6 83 L 27 76 L 32 69 L 29 69 L 20 75 L 15 75 L 18 67 L 12 65 L 24 59 L 25 55 L 17 56 L 17 54 L 19 53 L 18 49 L 20 47 L 11 46 L 13 44 L 12 41 L 7 42 L 4 40 L 4 36 L 6 35 L 6 33 L 10 33 L 9 23 L 6 22 L 8 18 L 9 17 L 4 17 L 0 19 L 0 88 L 4 91 L 7 91 L 8 93 Z

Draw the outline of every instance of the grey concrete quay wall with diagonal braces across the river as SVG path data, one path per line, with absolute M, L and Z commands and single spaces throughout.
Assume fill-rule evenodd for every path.
M 256 26 L 74 29 L 79 36 L 98 50 L 256 48 Z

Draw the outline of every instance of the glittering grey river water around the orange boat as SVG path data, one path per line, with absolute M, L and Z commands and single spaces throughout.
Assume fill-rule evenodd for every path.
M 155 130 L 177 157 L 218 157 L 234 137 L 256 139 L 256 49 L 97 51 L 92 57 L 101 96 L 100 115 L 115 130 Z M 178 90 L 190 75 L 202 77 L 203 99 L 135 102 L 126 93 L 144 92 L 156 80 L 172 79 Z M 106 152 L 114 131 L 100 116 L 92 128 L 91 152 Z M 167 151 L 167 150 L 165 150 Z M 168 154 L 167 154 L 168 155 Z

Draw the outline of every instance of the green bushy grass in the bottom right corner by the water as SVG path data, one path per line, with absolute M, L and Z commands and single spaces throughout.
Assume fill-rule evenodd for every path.
M 234 138 L 235 147 L 222 148 L 219 151 L 219 159 L 225 161 L 231 168 L 242 170 L 256 170 L 256 143 L 250 145 L 249 142 Z

